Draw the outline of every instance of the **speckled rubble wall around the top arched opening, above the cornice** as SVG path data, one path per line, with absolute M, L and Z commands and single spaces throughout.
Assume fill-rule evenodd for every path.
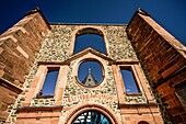
M 85 27 L 94 27 L 103 32 L 108 57 L 115 60 L 138 60 L 136 53 L 125 33 L 125 25 L 50 25 L 51 33 L 44 41 L 38 61 L 62 61 L 72 53 L 75 33 Z M 73 48 L 73 47 L 72 47 Z

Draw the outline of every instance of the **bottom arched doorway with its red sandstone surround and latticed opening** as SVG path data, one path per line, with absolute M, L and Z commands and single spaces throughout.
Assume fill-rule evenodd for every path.
M 72 109 L 65 124 L 120 124 L 111 109 L 96 103 L 84 103 Z

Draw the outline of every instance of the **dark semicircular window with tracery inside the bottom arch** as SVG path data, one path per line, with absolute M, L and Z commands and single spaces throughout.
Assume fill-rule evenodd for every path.
M 112 124 L 111 121 L 97 111 L 86 111 L 79 114 L 72 124 Z

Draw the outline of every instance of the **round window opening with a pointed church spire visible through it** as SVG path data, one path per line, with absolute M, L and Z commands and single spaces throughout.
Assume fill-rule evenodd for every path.
M 96 60 L 86 60 L 80 64 L 78 79 L 82 86 L 95 87 L 103 80 L 102 66 Z

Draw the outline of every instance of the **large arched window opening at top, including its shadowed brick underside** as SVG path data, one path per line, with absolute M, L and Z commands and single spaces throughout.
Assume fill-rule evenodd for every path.
M 95 29 L 84 29 L 75 35 L 73 54 L 77 54 L 88 47 L 96 49 L 106 55 L 103 33 Z

